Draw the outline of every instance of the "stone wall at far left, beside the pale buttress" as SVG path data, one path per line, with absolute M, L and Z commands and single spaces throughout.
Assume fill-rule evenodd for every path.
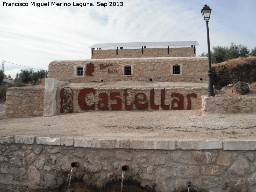
M 44 85 L 8 88 L 5 104 L 6 118 L 43 116 Z

